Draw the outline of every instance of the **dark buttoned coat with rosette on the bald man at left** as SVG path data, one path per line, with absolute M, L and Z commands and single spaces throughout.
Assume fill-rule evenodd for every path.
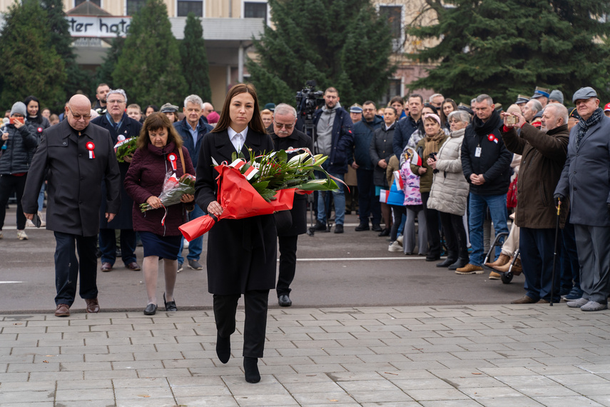
M 89 159 L 86 149 L 89 141 L 95 145 L 94 159 Z M 96 236 L 102 197 L 110 213 L 117 213 L 121 206 L 121 176 L 108 131 L 89 124 L 78 136 L 67 120 L 45 129 L 32 159 L 21 199 L 25 213 L 38 211 L 38 195 L 46 168 L 49 169 L 46 228 L 80 236 Z M 102 181 L 105 195 L 99 188 Z

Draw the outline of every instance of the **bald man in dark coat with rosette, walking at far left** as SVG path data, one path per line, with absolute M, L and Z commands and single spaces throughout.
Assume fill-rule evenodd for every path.
M 98 186 L 102 181 L 106 187 L 103 197 L 106 219 L 112 221 L 121 206 L 121 175 L 113 143 L 108 131 L 89 123 L 91 104 L 86 96 L 72 96 L 66 106 L 66 118 L 44 130 L 21 201 L 26 218 L 34 219 L 40 187 L 48 169 L 46 228 L 54 231 L 56 240 L 56 316 L 70 316 L 78 275 L 87 312 L 99 311 L 96 241 L 102 200 Z

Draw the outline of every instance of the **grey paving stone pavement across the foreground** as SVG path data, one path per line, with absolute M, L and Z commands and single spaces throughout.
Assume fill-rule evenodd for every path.
M 0 406 L 610 406 L 609 316 L 272 308 L 249 384 L 240 324 L 223 365 L 212 311 L 0 314 Z

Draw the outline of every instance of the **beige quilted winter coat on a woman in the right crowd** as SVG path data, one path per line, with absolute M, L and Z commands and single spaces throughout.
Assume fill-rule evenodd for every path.
M 462 216 L 466 213 L 468 181 L 462 171 L 464 129 L 452 131 L 437 154 L 437 170 L 432 181 L 428 208 Z

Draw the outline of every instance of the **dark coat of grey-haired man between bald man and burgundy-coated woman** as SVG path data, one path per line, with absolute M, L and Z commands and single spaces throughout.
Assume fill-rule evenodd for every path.
M 140 135 L 140 130 L 142 129 L 142 124 L 137 121 L 131 119 L 127 114 L 123 113 L 121 127 L 117 129 L 114 128 L 114 123 L 108 121 L 108 117 L 106 114 L 96 117 L 91 120 L 91 123 L 97 124 L 98 126 L 103 127 L 104 129 L 110 132 L 110 136 L 112 138 L 113 145 L 116 144 L 118 139 L 118 135 L 123 135 L 126 139 L 130 137 L 137 137 Z M 118 169 L 121 171 L 121 209 L 116 214 L 116 217 L 108 223 L 106 218 L 103 216 L 103 213 L 106 211 L 106 204 L 104 202 L 101 203 L 100 208 L 100 228 L 111 228 L 111 229 L 132 229 L 133 222 L 131 220 L 131 206 L 133 206 L 133 201 L 131 200 L 131 196 L 127 194 L 125 188 L 123 187 L 123 183 L 125 182 L 125 176 L 127 175 L 127 171 L 129 169 L 129 163 L 118 163 Z M 103 194 L 103 186 L 102 186 L 102 194 Z

